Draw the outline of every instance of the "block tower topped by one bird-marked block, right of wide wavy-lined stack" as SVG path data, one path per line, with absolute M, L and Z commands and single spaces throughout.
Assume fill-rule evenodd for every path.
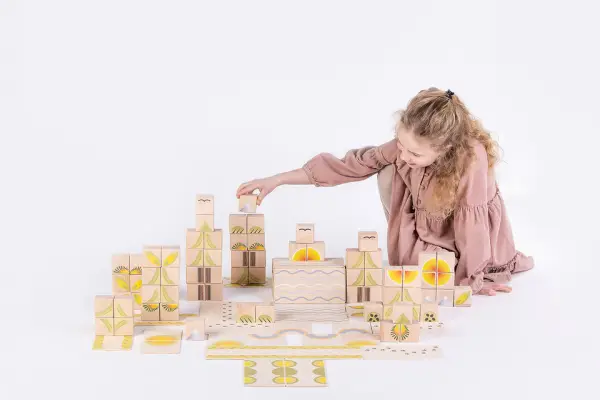
M 359 232 L 358 248 L 346 249 L 348 303 L 380 303 L 383 264 L 377 232 Z

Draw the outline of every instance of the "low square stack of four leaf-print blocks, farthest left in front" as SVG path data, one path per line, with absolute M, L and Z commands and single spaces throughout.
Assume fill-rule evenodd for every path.
M 133 335 L 133 296 L 100 295 L 94 298 L 96 335 Z

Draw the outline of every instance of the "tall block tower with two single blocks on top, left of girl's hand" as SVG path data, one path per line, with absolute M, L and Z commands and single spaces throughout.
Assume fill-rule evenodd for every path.
M 215 199 L 196 196 L 196 228 L 186 231 L 187 300 L 223 300 L 223 230 L 214 228 Z

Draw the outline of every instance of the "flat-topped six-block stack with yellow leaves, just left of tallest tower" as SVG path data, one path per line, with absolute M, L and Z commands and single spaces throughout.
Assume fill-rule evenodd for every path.
M 179 320 L 179 246 L 144 246 L 142 321 Z

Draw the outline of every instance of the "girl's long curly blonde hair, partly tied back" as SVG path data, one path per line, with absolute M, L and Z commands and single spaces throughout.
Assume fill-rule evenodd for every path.
M 397 114 L 396 131 L 404 126 L 415 136 L 428 139 L 434 149 L 442 151 L 430 166 L 434 179 L 432 206 L 437 212 L 452 214 L 460 179 L 475 158 L 469 143 L 475 139 L 484 146 L 489 169 L 499 159 L 498 144 L 450 91 L 435 87 L 421 90 L 409 101 L 406 109 Z

